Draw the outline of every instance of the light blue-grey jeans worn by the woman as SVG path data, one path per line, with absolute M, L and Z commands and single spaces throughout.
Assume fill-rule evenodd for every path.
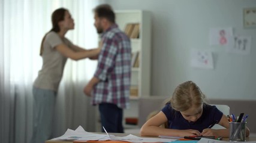
M 52 138 L 56 92 L 33 87 L 33 135 L 31 143 L 44 143 Z

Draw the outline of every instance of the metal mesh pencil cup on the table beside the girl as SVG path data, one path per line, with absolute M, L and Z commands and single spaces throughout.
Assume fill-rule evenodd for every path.
M 230 122 L 230 141 L 246 141 L 246 122 Z

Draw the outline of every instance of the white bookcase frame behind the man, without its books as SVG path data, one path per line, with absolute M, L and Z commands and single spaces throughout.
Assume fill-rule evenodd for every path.
M 116 23 L 121 30 L 130 23 L 139 24 L 138 38 L 131 39 L 132 53 L 138 52 L 138 67 L 132 67 L 131 87 L 137 88 L 137 96 L 132 99 L 147 97 L 150 94 L 150 71 L 151 71 L 151 18 L 149 11 L 124 10 L 115 11 Z

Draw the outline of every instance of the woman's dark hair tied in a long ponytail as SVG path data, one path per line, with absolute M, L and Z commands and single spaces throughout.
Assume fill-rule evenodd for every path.
M 49 32 L 59 32 L 61 29 L 59 29 L 59 21 L 64 20 L 65 12 L 68 11 L 65 8 L 58 8 L 57 10 L 53 11 L 52 13 L 52 29 Z M 49 33 L 47 32 L 47 33 Z M 46 35 L 47 35 L 46 33 Z M 44 38 L 41 42 L 41 48 L 40 48 L 40 55 L 43 54 L 44 48 L 43 48 L 43 42 L 44 39 L 46 39 L 46 35 L 44 35 Z

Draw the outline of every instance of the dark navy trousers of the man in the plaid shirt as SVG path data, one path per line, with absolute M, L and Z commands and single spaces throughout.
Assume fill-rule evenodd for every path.
M 122 125 L 123 110 L 119 108 L 116 104 L 101 103 L 99 104 L 101 125 L 107 130 L 107 132 L 112 133 L 124 133 L 124 128 Z M 101 128 L 102 132 L 105 132 Z

